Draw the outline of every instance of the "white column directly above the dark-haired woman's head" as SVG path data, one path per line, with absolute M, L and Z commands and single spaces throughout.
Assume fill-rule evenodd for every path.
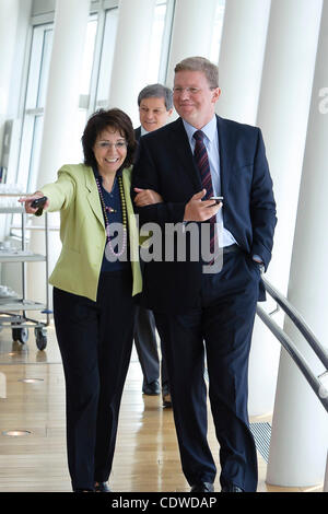
M 139 124 L 138 94 L 144 82 L 155 0 L 120 0 L 109 91 L 109 107 L 125 110 Z

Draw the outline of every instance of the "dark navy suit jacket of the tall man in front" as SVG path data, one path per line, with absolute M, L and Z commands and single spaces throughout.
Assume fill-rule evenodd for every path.
M 272 180 L 261 131 L 216 116 L 223 222 L 249 256 L 259 255 L 265 268 L 271 259 L 277 223 Z M 133 187 L 160 192 L 163 203 L 136 209 L 139 223 L 179 223 L 185 206 L 202 189 L 183 120 L 140 138 Z M 132 192 L 133 195 L 133 192 Z M 184 312 L 200 301 L 200 261 L 151 261 L 143 277 L 143 304 L 154 311 Z M 259 300 L 265 300 L 260 288 Z

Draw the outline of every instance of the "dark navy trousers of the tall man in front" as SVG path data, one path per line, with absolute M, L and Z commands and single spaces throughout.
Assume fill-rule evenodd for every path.
M 213 482 L 207 441 L 207 387 L 220 444 L 222 486 L 256 491 L 257 456 L 248 424 L 247 371 L 260 272 L 242 252 L 225 254 L 223 269 L 203 274 L 201 306 L 184 314 L 155 313 L 165 343 L 183 470 L 189 484 Z

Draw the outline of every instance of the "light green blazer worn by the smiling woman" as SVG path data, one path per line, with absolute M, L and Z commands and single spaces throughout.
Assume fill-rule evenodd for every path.
M 127 202 L 132 291 L 142 290 L 139 265 L 139 233 L 130 197 L 131 167 L 122 171 Z M 84 164 L 66 164 L 58 179 L 42 188 L 49 199 L 48 211 L 60 210 L 59 259 L 49 278 L 56 288 L 96 300 L 98 279 L 106 245 L 104 215 L 93 170 Z

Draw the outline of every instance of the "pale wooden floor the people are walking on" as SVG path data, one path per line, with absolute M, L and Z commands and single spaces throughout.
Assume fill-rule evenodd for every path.
M 22 382 L 37 378 L 35 383 Z M 114 468 L 113 491 L 189 491 L 179 463 L 171 409 L 161 397 L 143 396 L 136 351 L 124 392 Z M 211 420 L 211 416 L 209 416 Z M 33 329 L 24 346 L 0 332 L 0 492 L 71 491 L 66 458 L 65 383 L 54 327 L 48 344 L 38 351 Z M 27 431 L 9 436 L 8 431 Z M 210 421 L 209 442 L 218 460 Z M 307 491 L 266 484 L 266 462 L 258 455 L 260 492 Z M 219 464 L 218 464 L 219 467 Z M 218 472 L 219 475 L 219 472 Z M 220 491 L 216 479 L 215 491 Z M 321 488 L 308 489 L 321 491 Z

